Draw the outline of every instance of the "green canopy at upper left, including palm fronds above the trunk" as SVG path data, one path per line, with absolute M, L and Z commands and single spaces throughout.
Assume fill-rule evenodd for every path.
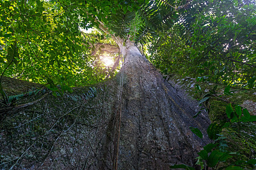
M 90 52 L 106 37 L 92 38 L 81 29 L 103 22 L 111 34 L 136 34 L 139 41 L 173 15 L 166 4 L 177 6 L 172 1 L 1 1 L 1 73 L 69 86 L 97 82 L 104 70 L 92 68 Z

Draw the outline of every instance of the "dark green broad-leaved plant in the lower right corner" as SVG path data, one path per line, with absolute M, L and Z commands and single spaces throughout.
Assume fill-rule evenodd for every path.
M 241 106 L 236 106 L 236 111 L 232 109 L 231 104 L 227 105 L 226 112 L 228 117 L 230 118 L 230 122 L 239 122 L 239 118 L 241 117 Z M 255 121 L 255 116 L 250 116 L 248 115 L 248 111 L 246 109 L 243 109 L 244 117 L 240 119 L 241 122 L 254 122 Z M 230 115 L 236 114 L 237 117 L 234 119 L 234 117 L 230 117 Z M 246 116 L 245 116 L 246 115 Z M 248 118 L 250 116 L 250 118 Z M 247 117 L 245 119 L 245 117 Z M 249 166 L 249 167 L 254 167 L 255 168 L 255 159 L 250 159 L 250 160 L 237 160 L 237 159 L 232 159 L 234 155 L 237 155 L 238 153 L 230 153 L 227 151 L 227 141 L 223 135 L 221 135 L 222 129 L 230 126 L 230 122 L 227 122 L 224 125 L 220 124 L 211 124 L 209 125 L 207 129 L 207 134 L 210 139 L 213 140 L 212 143 L 209 143 L 204 146 L 204 150 L 201 150 L 198 152 L 199 157 L 197 157 L 197 162 L 196 164 L 201 167 L 201 169 L 205 169 L 207 167 L 212 167 L 216 169 L 243 169 L 242 167 L 244 166 Z M 199 138 L 202 138 L 202 132 L 197 129 L 190 127 L 191 131 L 198 136 Z M 229 162 L 228 162 L 229 161 Z M 225 164 L 220 164 L 220 162 L 223 162 Z M 175 166 L 170 166 L 172 169 L 175 168 L 184 168 L 184 169 L 192 169 L 193 167 L 186 166 L 184 164 L 181 165 L 175 165 Z

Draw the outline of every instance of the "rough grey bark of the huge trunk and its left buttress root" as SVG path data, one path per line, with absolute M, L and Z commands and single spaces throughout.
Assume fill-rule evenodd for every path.
M 208 116 L 192 118 L 200 109 L 197 101 L 164 81 L 132 43 L 120 51 L 124 66 L 97 86 L 97 97 L 85 99 L 88 88 L 74 89 L 1 114 L 0 169 L 193 166 L 204 143 L 189 127 L 207 136 Z

